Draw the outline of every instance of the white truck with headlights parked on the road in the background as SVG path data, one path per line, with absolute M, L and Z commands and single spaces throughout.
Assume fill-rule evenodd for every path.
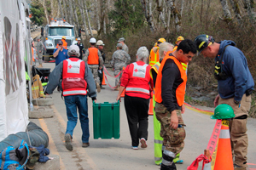
M 67 49 L 75 44 L 74 26 L 62 19 L 51 20 L 49 25 L 41 27 L 41 36 L 44 42 L 44 60 L 49 61 L 61 38 L 66 37 Z

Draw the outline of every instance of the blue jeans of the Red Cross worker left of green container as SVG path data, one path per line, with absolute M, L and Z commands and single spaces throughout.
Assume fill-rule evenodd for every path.
M 78 122 L 78 112 L 79 109 L 79 119 L 82 128 L 82 141 L 83 143 L 89 142 L 89 119 L 88 119 L 88 105 L 87 105 L 87 95 L 70 95 L 65 96 L 65 105 L 67 110 L 67 131 L 71 136 L 73 136 L 73 129 L 76 127 Z

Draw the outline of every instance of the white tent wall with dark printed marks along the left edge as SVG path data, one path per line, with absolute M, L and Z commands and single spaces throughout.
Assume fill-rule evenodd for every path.
M 0 0 L 0 140 L 11 133 L 25 132 L 28 124 L 26 32 L 23 3 Z

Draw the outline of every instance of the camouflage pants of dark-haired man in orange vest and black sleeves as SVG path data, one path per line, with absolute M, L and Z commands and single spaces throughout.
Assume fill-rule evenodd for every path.
M 177 129 L 172 129 L 172 127 L 170 127 L 171 113 L 170 111 L 167 111 L 165 105 L 155 102 L 154 111 L 156 118 L 161 124 L 160 136 L 163 138 L 163 145 L 166 145 L 166 150 L 172 151 L 177 155 L 184 147 L 184 139 L 186 137 L 184 127 L 177 127 Z M 181 111 L 176 110 L 176 112 L 178 124 L 185 126 Z

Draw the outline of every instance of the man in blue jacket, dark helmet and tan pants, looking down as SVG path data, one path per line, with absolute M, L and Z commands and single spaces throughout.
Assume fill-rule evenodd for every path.
M 251 107 L 253 77 L 247 65 L 247 59 L 235 42 L 224 40 L 215 42 L 213 37 L 200 35 L 195 37 L 199 54 L 215 59 L 214 77 L 218 80 L 218 95 L 214 105 L 230 105 L 235 118 L 230 121 L 231 147 L 235 156 L 234 168 L 247 167 L 247 116 Z

